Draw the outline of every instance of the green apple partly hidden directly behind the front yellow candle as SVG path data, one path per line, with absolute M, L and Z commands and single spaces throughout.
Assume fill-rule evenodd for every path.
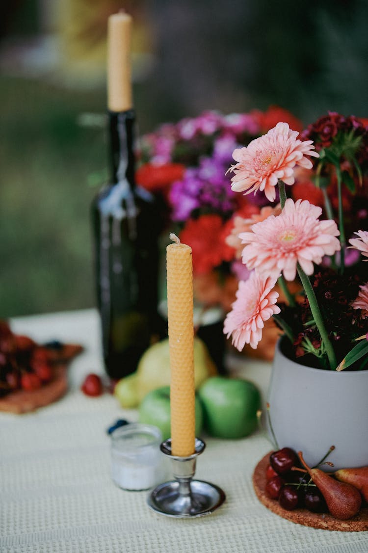
M 170 387 L 161 386 L 148 392 L 138 407 L 139 422 L 158 426 L 162 432 L 163 440 L 171 435 L 170 430 Z M 202 406 L 199 399 L 195 398 L 195 435 L 200 436 L 203 426 Z

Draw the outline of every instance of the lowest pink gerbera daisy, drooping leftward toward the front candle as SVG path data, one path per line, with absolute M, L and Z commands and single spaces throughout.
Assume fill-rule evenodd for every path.
M 232 310 L 226 315 L 224 333 L 241 351 L 245 344 L 256 349 L 262 338 L 263 321 L 280 312 L 278 293 L 273 290 L 276 279 L 252 272 L 247 281 L 240 280 Z

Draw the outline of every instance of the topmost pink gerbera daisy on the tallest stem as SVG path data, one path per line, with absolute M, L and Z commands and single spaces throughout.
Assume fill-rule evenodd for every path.
M 246 148 L 237 148 L 232 156 L 237 161 L 229 169 L 235 175 L 231 188 L 236 192 L 246 190 L 246 194 L 264 190 L 269 201 L 276 197 L 275 186 L 279 179 L 286 184 L 294 184 L 294 167 L 312 168 L 312 161 L 305 155 L 314 155 L 313 140 L 298 140 L 297 131 L 289 129 L 287 123 L 277 123 L 276 127 L 252 140 Z

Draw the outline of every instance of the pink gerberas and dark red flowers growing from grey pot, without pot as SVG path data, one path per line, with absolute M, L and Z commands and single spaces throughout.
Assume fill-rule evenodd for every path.
M 264 207 L 253 225 L 235 221 L 251 273 L 239 281 L 224 331 L 238 349 L 256 348 L 273 316 L 299 362 L 368 368 L 368 128 L 330 113 L 298 134 L 278 123 L 234 150 L 232 190 L 262 191 L 273 203 L 278 189 L 280 205 Z M 287 197 L 296 183 L 315 203 Z M 293 294 L 297 276 L 302 290 Z M 287 298 L 280 305 L 277 281 Z

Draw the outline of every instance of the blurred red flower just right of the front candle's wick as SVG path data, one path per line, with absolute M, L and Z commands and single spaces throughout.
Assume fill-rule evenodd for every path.
M 180 233 L 180 241 L 193 252 L 193 274 L 205 274 L 234 257 L 234 249 L 225 242 L 227 230 L 219 215 L 201 215 L 189 219 Z

